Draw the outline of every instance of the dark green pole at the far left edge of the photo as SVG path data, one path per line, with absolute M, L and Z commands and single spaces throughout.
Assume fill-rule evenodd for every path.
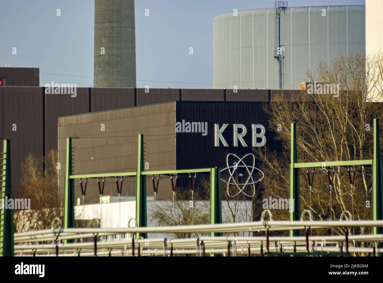
M 0 209 L 0 256 L 13 257 L 15 255 L 13 233 L 15 231 L 13 222 L 13 209 L 8 209 L 7 199 L 13 198 L 11 193 L 11 142 L 3 141 L 2 156 L 2 186 L 0 199 L 4 207 Z

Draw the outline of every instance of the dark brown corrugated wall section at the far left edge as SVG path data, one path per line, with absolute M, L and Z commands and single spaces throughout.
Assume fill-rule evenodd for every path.
M 25 158 L 43 155 L 42 88 L 0 87 L 0 101 L 0 137 L 11 140 L 12 184 L 17 186 Z

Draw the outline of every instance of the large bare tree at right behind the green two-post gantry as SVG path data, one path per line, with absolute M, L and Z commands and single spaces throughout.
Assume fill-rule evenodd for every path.
M 280 154 L 267 148 L 254 148 L 266 175 L 262 181 L 265 198 L 288 197 L 291 123 L 297 125 L 299 162 L 372 158 L 373 118 L 383 115 L 382 105 L 372 102 L 383 97 L 382 66 L 381 54 L 342 57 L 330 66 L 320 63 L 316 72 L 308 72 L 311 90 L 314 91 L 292 92 L 290 102 L 276 97 L 265 106 L 270 114 L 269 127 L 282 144 Z M 300 170 L 302 211 L 312 211 L 317 219 L 339 219 L 342 211 L 351 211 L 356 220 L 371 219 L 370 167 L 329 168 L 323 163 L 321 168 L 315 169 L 310 190 L 307 174 L 312 176 L 312 171 Z M 354 171 L 354 185 L 350 186 L 349 172 L 353 175 Z M 333 174 L 334 185 L 330 189 L 328 179 Z M 288 211 L 273 211 L 273 216 L 275 219 L 288 219 Z M 340 230 L 336 232 L 343 233 Z

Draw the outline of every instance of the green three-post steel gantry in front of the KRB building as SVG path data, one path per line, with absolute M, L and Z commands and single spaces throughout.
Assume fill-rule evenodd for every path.
M 136 220 L 138 227 L 147 226 L 146 211 L 146 176 L 187 173 L 210 173 L 210 223 L 222 223 L 221 210 L 221 171 L 218 168 L 144 171 L 144 136 L 138 135 L 137 171 L 125 173 L 97 173 L 72 175 L 72 138 L 67 138 L 67 157 L 65 169 L 65 204 L 64 204 L 64 228 L 74 228 L 74 179 L 80 178 L 104 178 L 115 176 L 136 176 Z M 219 236 L 221 233 L 212 233 Z M 137 237 L 147 238 L 147 234 L 139 234 Z

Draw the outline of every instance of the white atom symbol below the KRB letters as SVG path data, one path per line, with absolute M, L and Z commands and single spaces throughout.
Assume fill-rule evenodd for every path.
M 236 158 L 236 162 L 232 163 L 233 164 L 232 166 L 229 165 L 229 157 L 230 156 L 233 156 Z M 251 156 L 252 166 L 248 166 L 245 164 L 244 159 L 247 156 Z M 249 158 L 247 158 L 247 159 L 249 159 Z M 241 168 L 242 171 L 244 171 L 244 173 L 247 175 L 247 177 L 245 177 L 246 181 L 244 181 L 243 183 L 239 183 L 239 182 L 237 183 L 236 178 L 234 178 L 234 173 L 236 173 L 238 168 Z M 255 156 L 252 153 L 248 153 L 248 154 L 242 156 L 242 158 L 239 158 L 237 155 L 235 155 L 233 153 L 229 153 L 226 156 L 226 168 L 222 169 L 221 173 L 224 172 L 225 170 L 229 171 L 229 179 L 228 179 L 228 181 L 221 179 L 221 181 L 223 181 L 224 183 L 227 184 L 226 190 L 228 192 L 229 197 L 235 197 L 235 196 L 239 195 L 240 193 L 243 193 L 244 195 L 246 195 L 248 197 L 253 197 L 255 195 L 255 184 L 262 181 L 262 179 L 265 177 L 265 174 L 260 169 L 255 168 Z M 256 179 L 255 177 L 253 177 L 253 173 L 255 170 L 259 171 L 262 174 L 262 176 L 259 179 Z M 243 173 L 240 173 L 239 177 L 243 177 Z M 230 194 L 230 192 L 229 192 L 229 186 L 230 185 L 234 185 L 234 187 L 237 189 L 236 194 L 233 194 L 233 195 Z M 252 195 L 249 195 L 244 191 L 246 186 L 250 186 L 252 188 L 252 192 L 253 192 Z

